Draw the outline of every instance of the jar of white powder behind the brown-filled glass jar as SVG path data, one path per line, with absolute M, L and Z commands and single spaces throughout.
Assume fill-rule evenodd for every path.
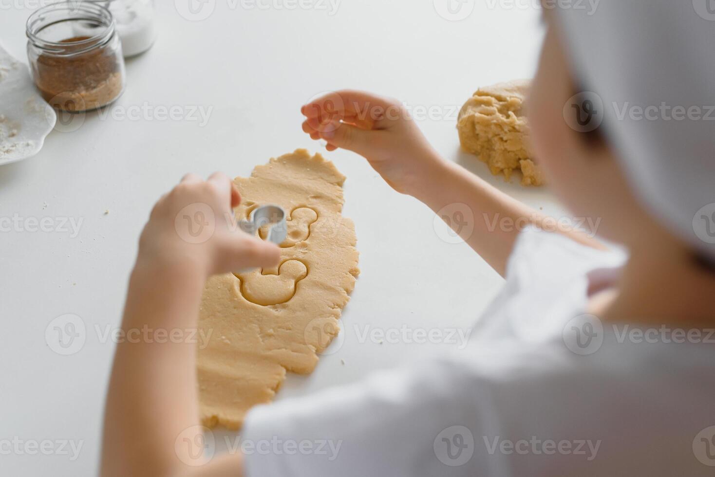
M 157 38 L 154 0 L 91 0 L 112 13 L 124 57 L 144 53 Z M 92 26 L 80 24 L 77 35 L 90 35 Z

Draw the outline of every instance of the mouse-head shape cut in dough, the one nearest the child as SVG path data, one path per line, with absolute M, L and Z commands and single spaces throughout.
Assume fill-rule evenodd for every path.
M 241 279 L 241 293 L 251 303 L 261 306 L 280 305 L 293 298 L 299 281 L 308 274 L 304 263 L 289 260 L 278 268 L 277 273 L 250 271 L 237 273 Z

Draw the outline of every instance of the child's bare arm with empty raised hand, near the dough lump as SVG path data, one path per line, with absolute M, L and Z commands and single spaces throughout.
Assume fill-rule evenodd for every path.
M 518 235 L 516 226 L 499 227 L 504 219 L 511 219 L 511 224 L 536 226 L 549 221 L 545 229 L 556 226 L 555 220 L 442 159 L 399 101 L 360 91 L 337 91 L 306 104 L 301 112 L 307 118 L 303 131 L 312 139 L 327 141 L 328 151 L 342 148 L 364 156 L 398 192 L 414 196 L 435 212 L 450 204 L 467 204 L 473 216 L 470 226 L 454 221 L 454 217 L 443 219 L 452 221 L 450 226 L 502 275 Z M 558 231 L 602 248 L 580 231 L 563 227 Z

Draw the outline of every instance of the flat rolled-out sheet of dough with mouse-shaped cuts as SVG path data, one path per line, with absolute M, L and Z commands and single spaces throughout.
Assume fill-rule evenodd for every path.
M 227 273 L 207 281 L 199 326 L 209 336 L 197 351 L 205 426 L 240 428 L 247 411 L 272 401 L 286 371 L 307 374 L 340 328 L 355 286 L 355 226 L 342 217 L 340 174 L 305 149 L 256 166 L 237 178 L 245 219 L 275 204 L 289 215 L 277 268 Z M 265 231 L 264 231 L 265 232 Z

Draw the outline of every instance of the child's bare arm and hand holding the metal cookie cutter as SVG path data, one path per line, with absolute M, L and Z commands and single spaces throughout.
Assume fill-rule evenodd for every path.
M 103 477 L 242 475 L 240 455 L 192 467 L 195 456 L 184 445 L 201 433 L 193 337 L 204 281 L 280 258 L 276 246 L 232 225 L 239 201 L 227 176 L 189 175 L 152 211 L 129 282 L 127 339 L 117 346 L 109 383 Z

